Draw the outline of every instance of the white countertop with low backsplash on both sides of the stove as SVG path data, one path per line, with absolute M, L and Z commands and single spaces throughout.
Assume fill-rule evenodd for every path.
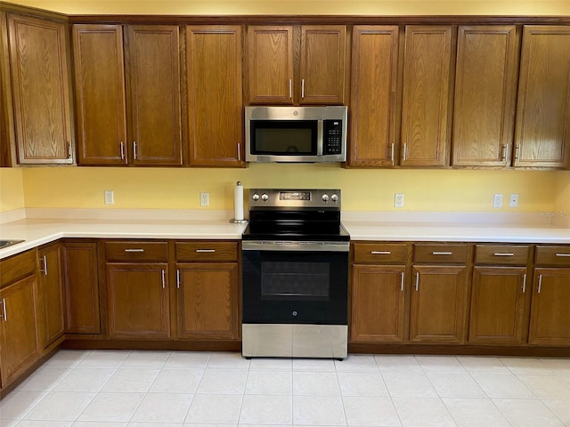
M 0 259 L 59 238 L 240 239 L 247 224 L 230 223 L 230 217 L 224 212 L 165 211 L 158 217 L 156 211 L 27 210 L 26 218 L 0 223 L 0 239 L 25 240 L 0 249 Z M 395 217 L 351 212 L 343 213 L 342 222 L 351 240 L 570 244 L 566 219 L 558 223 L 531 215 L 408 213 Z

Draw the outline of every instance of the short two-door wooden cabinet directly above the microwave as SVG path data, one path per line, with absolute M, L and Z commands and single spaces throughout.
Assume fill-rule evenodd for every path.
M 346 26 L 248 28 L 249 103 L 343 104 L 345 86 Z

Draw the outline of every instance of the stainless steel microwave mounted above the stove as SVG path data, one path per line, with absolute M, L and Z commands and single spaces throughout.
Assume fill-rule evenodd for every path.
M 246 161 L 345 162 L 347 117 L 345 106 L 248 106 Z

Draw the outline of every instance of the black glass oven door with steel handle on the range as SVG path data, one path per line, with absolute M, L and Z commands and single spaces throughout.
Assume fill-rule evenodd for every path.
M 243 323 L 347 325 L 348 246 L 243 242 Z

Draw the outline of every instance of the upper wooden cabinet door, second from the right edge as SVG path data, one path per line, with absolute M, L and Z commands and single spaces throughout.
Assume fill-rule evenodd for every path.
M 519 38 L 514 25 L 460 26 L 452 165 L 511 165 Z

